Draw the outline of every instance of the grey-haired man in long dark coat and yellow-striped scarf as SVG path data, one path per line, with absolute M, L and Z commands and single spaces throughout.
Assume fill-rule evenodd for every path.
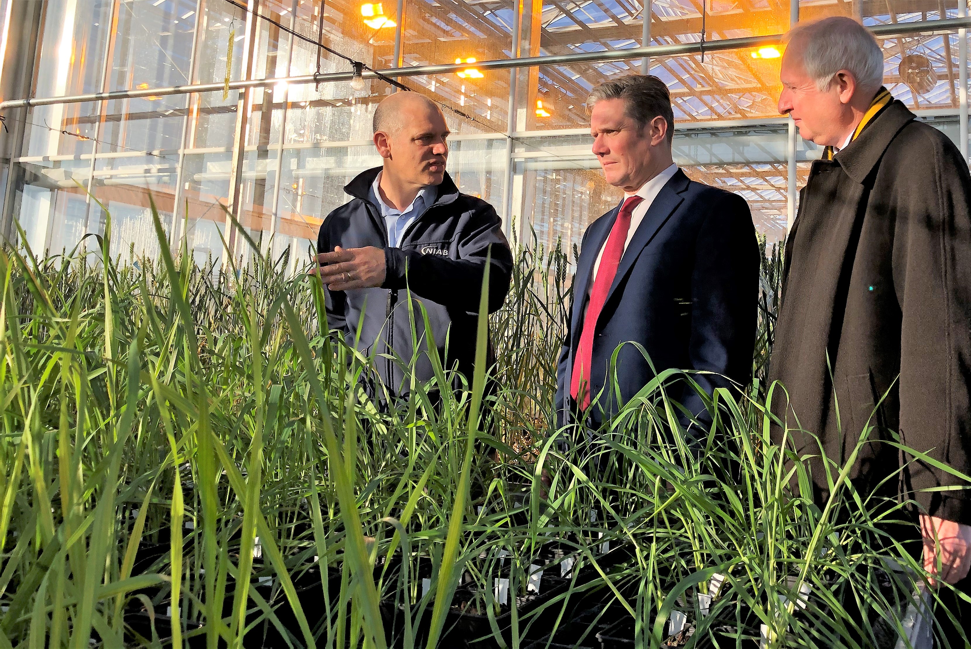
M 770 378 L 788 400 L 777 391 L 773 410 L 788 427 L 819 435 L 830 459 L 848 457 L 875 426 L 871 439 L 898 433 L 967 475 L 971 176 L 951 140 L 882 87 L 883 70 L 880 47 L 850 18 L 789 34 L 779 110 L 826 149 L 787 241 Z M 813 453 L 816 442 L 796 434 Z M 824 497 L 821 461 L 813 472 Z M 894 495 L 920 505 L 925 567 L 963 580 L 971 562 L 965 482 L 879 442 L 863 447 L 850 477 L 872 492 L 893 472 Z

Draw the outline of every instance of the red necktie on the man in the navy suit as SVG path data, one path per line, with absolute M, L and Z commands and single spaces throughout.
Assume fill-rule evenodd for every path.
M 623 256 L 623 246 L 627 242 L 627 231 L 630 229 L 630 215 L 642 200 L 644 199 L 640 196 L 629 196 L 620 206 L 617 221 L 611 228 L 610 236 L 604 245 L 604 254 L 600 257 L 600 267 L 597 268 L 593 288 L 590 289 L 590 301 L 586 305 L 584 328 L 580 331 L 580 345 L 577 346 L 577 355 L 573 361 L 573 375 L 570 379 L 570 394 L 574 399 L 577 399 L 583 384 L 584 398 L 580 407 L 584 409 L 590 404 L 589 377 L 593 357 L 593 332 L 596 329 L 600 311 L 604 308 L 604 302 L 607 301 L 607 292 L 614 284 L 614 277 L 617 275 L 620 256 Z M 583 295 L 580 298 L 583 299 Z M 582 382 L 581 377 L 583 377 Z

